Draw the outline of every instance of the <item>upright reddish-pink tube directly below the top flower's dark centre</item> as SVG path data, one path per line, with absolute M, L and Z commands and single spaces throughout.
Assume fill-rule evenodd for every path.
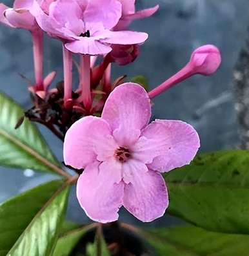
M 81 87 L 81 100 L 85 109 L 89 111 L 92 106 L 92 95 L 90 87 L 90 55 L 81 55 L 80 57 L 80 87 Z

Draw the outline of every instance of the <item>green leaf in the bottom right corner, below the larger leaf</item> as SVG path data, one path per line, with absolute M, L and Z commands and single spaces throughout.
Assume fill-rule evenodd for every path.
M 249 236 L 215 233 L 194 226 L 146 231 L 157 256 L 248 256 Z

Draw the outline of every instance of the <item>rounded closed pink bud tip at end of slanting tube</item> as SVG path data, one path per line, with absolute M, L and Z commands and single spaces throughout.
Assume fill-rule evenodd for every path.
M 214 45 L 203 45 L 192 53 L 189 65 L 194 73 L 208 76 L 221 65 L 221 53 Z

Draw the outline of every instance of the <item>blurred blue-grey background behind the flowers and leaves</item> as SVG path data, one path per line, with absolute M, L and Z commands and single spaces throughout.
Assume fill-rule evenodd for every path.
M 3 0 L 11 6 L 13 1 Z M 201 151 L 235 148 L 239 144 L 237 119 L 232 95 L 232 70 L 246 39 L 248 0 L 137 0 L 137 9 L 159 3 L 153 17 L 136 21 L 133 30 L 148 32 L 149 39 L 139 58 L 126 67 L 114 67 L 113 77 L 145 74 L 150 88 L 177 72 L 190 58 L 194 48 L 212 43 L 221 49 L 223 63 L 210 77 L 195 76 L 155 98 L 154 117 L 179 119 L 191 123 L 201 136 Z M 0 87 L 28 109 L 31 107 L 26 81 L 18 73 L 33 79 L 32 43 L 29 32 L 0 27 Z M 63 78 L 61 43 L 46 38 L 45 74 L 57 71 Z M 76 75 L 76 72 L 75 72 Z M 48 144 L 62 160 L 63 144 L 41 127 Z M 54 178 L 32 170 L 0 168 L 0 202 L 36 184 Z M 88 222 L 72 191 L 68 218 Z M 134 222 L 122 210 L 121 220 Z M 175 219 L 165 215 L 153 222 L 171 225 Z M 139 222 L 136 222 L 139 224 Z

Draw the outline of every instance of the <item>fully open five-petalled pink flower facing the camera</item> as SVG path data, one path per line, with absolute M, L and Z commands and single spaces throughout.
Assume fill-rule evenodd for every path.
M 77 198 L 92 220 L 117 220 L 121 206 L 143 222 L 163 216 L 168 193 L 161 173 L 189 164 L 199 137 L 187 123 L 148 124 L 150 118 L 148 93 L 125 83 L 110 94 L 101 118 L 86 116 L 66 133 L 65 163 L 85 169 Z

